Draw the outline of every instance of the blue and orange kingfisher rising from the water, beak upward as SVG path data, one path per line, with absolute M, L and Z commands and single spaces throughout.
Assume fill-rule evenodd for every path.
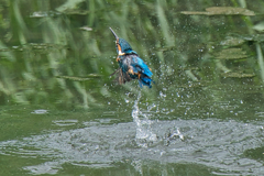
M 139 54 L 132 50 L 130 44 L 118 37 L 111 28 L 109 28 L 116 37 L 116 48 L 118 53 L 117 62 L 119 63 L 119 68 L 111 74 L 118 74 L 118 82 L 120 85 L 125 84 L 132 79 L 138 79 L 139 85 L 142 88 L 147 86 L 152 88 L 152 72 L 151 68 L 140 58 Z

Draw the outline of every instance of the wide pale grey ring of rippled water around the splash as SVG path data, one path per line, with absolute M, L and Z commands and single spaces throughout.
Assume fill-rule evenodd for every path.
M 114 119 L 105 119 L 84 121 L 81 128 L 76 128 L 77 120 L 55 120 L 54 125 L 75 128 L 2 141 L 0 154 L 37 160 L 37 164 L 25 162 L 22 167 L 34 175 L 59 174 L 66 169 L 65 165 L 87 172 L 128 167 L 125 174 L 141 175 L 150 175 L 146 167 L 150 172 L 156 166 L 161 167 L 157 175 L 184 174 L 186 169 L 174 168 L 194 164 L 197 168 L 193 175 L 199 175 L 205 168 L 213 175 L 264 173 L 263 156 L 251 155 L 252 150 L 263 148 L 263 123 L 217 118 L 186 120 L 173 114 L 169 117 L 174 120 L 158 120 L 167 114 L 156 113 L 154 105 L 142 109 L 140 101 L 141 94 L 133 102 L 131 122 L 113 123 Z

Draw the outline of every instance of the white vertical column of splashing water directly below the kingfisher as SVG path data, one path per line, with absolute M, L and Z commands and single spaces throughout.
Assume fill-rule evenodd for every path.
M 134 107 L 132 110 L 133 121 L 136 124 L 136 140 L 144 140 L 144 143 L 139 143 L 140 146 L 147 147 L 148 142 L 154 142 L 157 140 L 155 133 L 152 132 L 151 124 L 153 123 L 148 120 L 148 114 L 143 113 L 139 108 L 139 101 L 141 99 L 141 92 L 138 96 L 138 99 L 134 102 Z M 139 142 L 139 141 L 138 141 Z

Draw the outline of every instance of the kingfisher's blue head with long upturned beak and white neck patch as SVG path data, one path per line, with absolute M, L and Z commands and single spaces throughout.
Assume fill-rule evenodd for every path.
M 130 44 L 124 40 L 118 37 L 118 35 L 113 32 L 111 28 L 109 28 L 116 37 L 116 47 L 117 47 L 117 53 L 119 56 L 125 55 L 125 54 L 136 54 L 130 46 Z

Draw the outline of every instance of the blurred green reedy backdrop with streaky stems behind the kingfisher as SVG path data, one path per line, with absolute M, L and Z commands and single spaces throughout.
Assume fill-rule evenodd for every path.
M 254 15 L 180 13 L 218 6 L 248 8 Z M 139 91 L 132 84 L 114 86 L 109 78 L 118 67 L 109 26 L 153 69 L 152 98 L 163 88 L 188 86 L 189 81 L 221 84 L 231 77 L 231 81 L 252 78 L 251 84 L 262 85 L 262 6 L 261 0 L 3 0 L 0 105 L 88 108 L 122 97 L 124 90 Z M 258 31 L 254 30 L 257 24 Z M 237 51 L 230 54 L 228 48 Z M 228 58 L 232 52 L 237 56 Z M 82 79 L 75 81 L 78 78 Z

